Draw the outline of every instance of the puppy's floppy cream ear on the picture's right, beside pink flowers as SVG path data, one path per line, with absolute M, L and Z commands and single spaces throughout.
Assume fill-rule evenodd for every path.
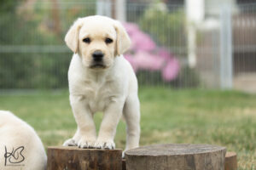
M 114 21 L 114 28 L 116 31 L 116 55 L 124 54 L 125 51 L 130 48 L 131 40 L 128 36 L 127 32 L 125 31 L 124 26 L 117 20 Z

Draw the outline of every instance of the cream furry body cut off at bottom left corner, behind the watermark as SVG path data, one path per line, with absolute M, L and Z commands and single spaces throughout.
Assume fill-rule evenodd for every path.
M 11 112 L 0 111 L 0 169 L 44 170 L 46 164 L 44 145 L 34 129 Z

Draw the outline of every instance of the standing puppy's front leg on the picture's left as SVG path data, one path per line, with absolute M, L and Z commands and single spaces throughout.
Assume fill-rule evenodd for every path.
M 71 94 L 70 103 L 78 124 L 78 130 L 73 139 L 68 139 L 64 145 L 72 145 L 74 143 L 79 145 L 80 148 L 93 148 L 96 141 L 96 127 L 84 96 Z

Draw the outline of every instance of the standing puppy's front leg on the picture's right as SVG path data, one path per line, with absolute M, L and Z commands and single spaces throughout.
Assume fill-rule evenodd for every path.
M 119 119 L 122 116 L 123 105 L 123 103 L 113 102 L 108 105 L 107 109 L 104 111 L 99 135 L 96 139 L 96 148 L 108 150 L 113 150 L 115 148 L 113 138 L 116 133 Z

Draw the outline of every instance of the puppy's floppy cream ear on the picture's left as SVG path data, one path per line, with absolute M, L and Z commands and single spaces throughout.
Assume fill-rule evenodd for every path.
M 79 50 L 79 30 L 82 27 L 82 19 L 78 19 L 73 23 L 73 26 L 67 31 L 65 36 L 65 42 L 67 47 L 70 48 L 73 53 L 78 53 Z

